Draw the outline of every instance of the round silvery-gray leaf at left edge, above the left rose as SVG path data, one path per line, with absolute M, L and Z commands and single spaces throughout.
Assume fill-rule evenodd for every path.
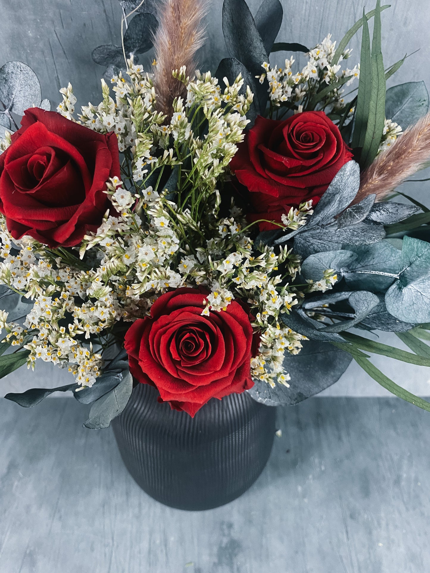
M 0 100 L 10 112 L 23 115 L 25 109 L 39 105 L 40 83 L 30 66 L 18 61 L 0 68 Z

